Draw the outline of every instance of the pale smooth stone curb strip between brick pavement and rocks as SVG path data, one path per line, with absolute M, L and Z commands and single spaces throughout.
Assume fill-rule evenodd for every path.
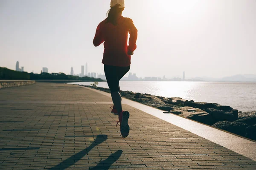
M 98 91 L 91 88 L 87 89 L 111 97 L 111 94 L 108 94 L 106 92 Z M 241 138 L 239 136 L 224 132 L 222 130 L 215 129 L 207 125 L 203 125 L 198 122 L 194 122 L 190 119 L 186 119 L 175 114 L 164 114 L 163 111 L 159 109 L 152 108 L 147 105 L 131 101 L 129 99 L 122 98 L 122 103 L 130 105 L 134 108 L 151 114 L 152 116 L 155 116 L 173 125 L 188 130 L 189 132 L 195 133 L 196 135 L 201 136 L 204 139 L 219 144 L 223 147 L 226 147 L 227 149 L 230 149 L 236 153 L 239 153 L 243 156 L 246 156 L 247 158 L 256 161 L 256 142 Z

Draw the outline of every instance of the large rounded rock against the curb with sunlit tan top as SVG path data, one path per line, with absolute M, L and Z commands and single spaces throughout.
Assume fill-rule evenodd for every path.
M 212 116 L 210 116 L 209 113 L 202 111 L 201 109 L 198 109 L 198 108 L 182 107 L 182 108 L 174 109 L 170 112 L 188 119 L 195 120 L 197 122 L 207 124 L 207 125 L 214 124 L 214 120 L 212 119 Z

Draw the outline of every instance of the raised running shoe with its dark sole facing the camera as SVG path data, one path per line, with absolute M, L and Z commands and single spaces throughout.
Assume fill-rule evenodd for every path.
M 130 117 L 130 113 L 128 111 L 122 111 L 119 113 L 119 121 L 117 121 L 116 126 L 120 122 L 120 132 L 123 138 L 126 138 L 130 132 L 130 127 L 128 125 L 128 119 Z

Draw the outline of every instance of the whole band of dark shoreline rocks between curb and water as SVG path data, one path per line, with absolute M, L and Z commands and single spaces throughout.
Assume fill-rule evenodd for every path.
M 110 93 L 108 88 L 84 87 Z M 121 91 L 121 95 L 126 99 L 163 110 L 163 113 L 173 113 L 248 139 L 256 140 L 256 111 L 239 112 L 230 106 L 222 106 L 217 103 L 194 102 L 193 100 L 188 101 L 178 97 L 166 98 L 131 91 Z

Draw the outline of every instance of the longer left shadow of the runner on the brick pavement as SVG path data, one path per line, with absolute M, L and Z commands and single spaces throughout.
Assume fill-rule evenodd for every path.
M 79 153 L 76 153 L 75 155 L 71 156 L 70 158 L 62 161 L 60 164 L 56 165 L 55 167 L 50 168 L 49 170 L 55 170 L 55 169 L 60 169 L 64 170 L 68 167 L 70 167 L 72 164 L 75 164 L 77 161 L 79 161 L 81 158 L 83 158 L 90 150 L 93 149 L 93 147 L 96 147 L 98 144 L 101 144 L 102 142 L 106 141 L 108 139 L 107 135 L 98 135 L 95 139 L 95 141 L 87 148 L 84 150 L 80 151 Z M 120 157 L 120 156 L 119 156 Z

